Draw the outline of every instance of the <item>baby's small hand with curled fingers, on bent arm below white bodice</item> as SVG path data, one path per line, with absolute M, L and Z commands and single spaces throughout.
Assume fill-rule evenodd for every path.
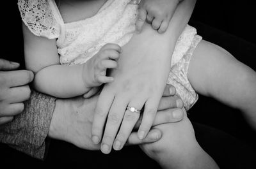
M 83 65 L 83 82 L 88 88 L 113 82 L 113 77 L 107 77 L 107 69 L 117 67 L 122 48 L 119 45 L 108 43 L 100 48 L 99 52 Z

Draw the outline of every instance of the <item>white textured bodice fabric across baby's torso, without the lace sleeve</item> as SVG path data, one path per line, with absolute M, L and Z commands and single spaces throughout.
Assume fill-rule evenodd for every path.
M 82 64 L 106 43 L 125 45 L 135 31 L 138 3 L 109 0 L 96 15 L 65 24 L 65 41 L 58 43 L 61 64 Z

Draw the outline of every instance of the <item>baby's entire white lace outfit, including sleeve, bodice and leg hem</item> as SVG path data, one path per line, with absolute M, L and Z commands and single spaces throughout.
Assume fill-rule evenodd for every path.
M 88 61 L 106 43 L 124 46 L 135 31 L 138 9 L 136 0 L 108 0 L 93 17 L 64 23 L 54 0 L 19 0 L 18 6 L 24 24 L 33 34 L 57 39 L 60 62 L 66 65 Z M 168 84 L 175 86 L 186 110 L 198 99 L 188 80 L 188 66 L 200 40 L 196 29 L 187 26 L 177 41 L 170 63 Z

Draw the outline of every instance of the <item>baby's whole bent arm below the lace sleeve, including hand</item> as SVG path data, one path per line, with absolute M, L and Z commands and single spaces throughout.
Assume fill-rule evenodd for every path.
M 35 36 L 23 24 L 26 68 L 35 73 L 33 85 L 37 91 L 58 98 L 82 95 L 92 87 L 112 82 L 107 68 L 116 68 L 121 48 L 108 44 L 84 64 L 60 65 L 56 40 Z M 111 60 L 113 59 L 113 60 Z

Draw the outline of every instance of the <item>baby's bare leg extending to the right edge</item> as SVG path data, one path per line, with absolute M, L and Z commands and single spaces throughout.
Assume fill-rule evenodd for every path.
M 256 72 L 226 50 L 201 41 L 188 70 L 195 91 L 239 108 L 256 129 Z

